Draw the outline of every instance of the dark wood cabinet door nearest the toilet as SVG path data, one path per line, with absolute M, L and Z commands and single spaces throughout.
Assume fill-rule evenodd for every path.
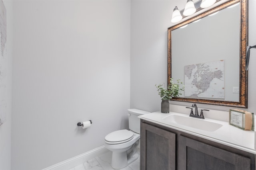
M 140 143 L 141 170 L 175 170 L 175 133 L 141 123 Z

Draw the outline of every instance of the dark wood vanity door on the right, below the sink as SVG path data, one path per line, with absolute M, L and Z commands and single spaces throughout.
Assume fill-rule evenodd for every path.
M 179 170 L 251 170 L 250 158 L 245 156 L 183 136 L 178 145 Z

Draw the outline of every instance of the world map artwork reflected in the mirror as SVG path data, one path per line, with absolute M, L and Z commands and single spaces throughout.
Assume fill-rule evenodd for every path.
M 184 95 L 225 99 L 224 60 L 184 66 Z

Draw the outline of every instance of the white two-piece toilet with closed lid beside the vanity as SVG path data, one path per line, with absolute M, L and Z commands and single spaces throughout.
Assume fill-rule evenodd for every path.
M 138 154 L 136 155 L 136 148 L 140 144 L 140 118 L 138 116 L 147 113 L 150 112 L 128 109 L 130 130 L 118 130 L 106 135 L 105 147 L 112 151 L 112 168 L 124 168 L 138 158 Z

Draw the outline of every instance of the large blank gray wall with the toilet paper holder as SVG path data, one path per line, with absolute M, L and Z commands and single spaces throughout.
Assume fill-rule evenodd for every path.
M 12 170 L 46 168 L 127 128 L 130 0 L 13 5 Z

